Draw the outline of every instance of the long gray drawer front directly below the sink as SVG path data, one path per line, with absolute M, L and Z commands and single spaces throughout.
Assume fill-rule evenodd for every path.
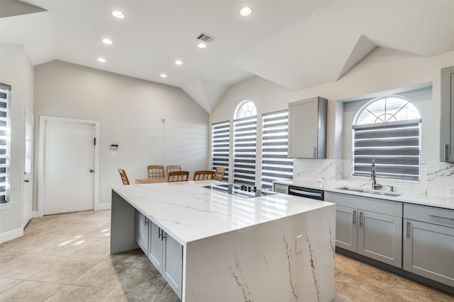
M 334 202 L 343 207 L 402 217 L 402 202 L 326 191 L 325 201 Z

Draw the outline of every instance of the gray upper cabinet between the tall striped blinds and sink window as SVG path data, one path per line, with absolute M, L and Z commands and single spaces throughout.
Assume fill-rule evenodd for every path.
M 321 97 L 289 103 L 289 158 L 326 158 L 327 108 Z

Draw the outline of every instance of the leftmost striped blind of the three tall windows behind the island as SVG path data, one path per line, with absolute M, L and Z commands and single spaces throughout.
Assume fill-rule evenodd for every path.
M 230 121 L 211 124 L 211 164 L 224 167 L 223 180 L 228 181 L 228 153 L 230 149 Z

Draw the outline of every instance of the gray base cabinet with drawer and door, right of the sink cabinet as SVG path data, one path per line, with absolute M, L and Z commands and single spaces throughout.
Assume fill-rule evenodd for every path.
M 404 269 L 454 286 L 454 210 L 404 204 Z

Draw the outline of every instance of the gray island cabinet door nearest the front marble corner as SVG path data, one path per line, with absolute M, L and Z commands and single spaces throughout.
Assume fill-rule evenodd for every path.
M 164 278 L 177 293 L 182 297 L 183 282 L 183 246 L 170 236 L 165 238 L 165 274 Z

